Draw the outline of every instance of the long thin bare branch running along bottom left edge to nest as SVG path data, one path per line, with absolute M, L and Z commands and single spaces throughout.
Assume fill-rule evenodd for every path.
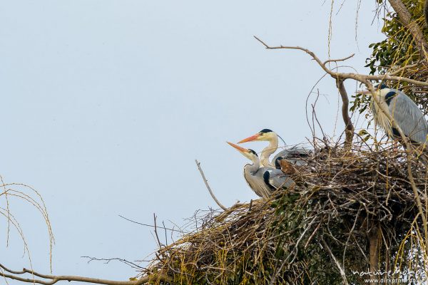
M 56 284 L 56 282 L 58 281 L 68 281 L 68 282 L 78 281 L 78 282 L 86 282 L 86 283 L 92 283 L 92 284 L 105 284 L 105 285 L 142 285 L 153 281 L 165 281 L 172 284 L 173 282 L 173 279 L 170 276 L 161 274 L 161 273 L 155 273 L 148 276 L 143 276 L 141 277 L 141 279 L 137 279 L 137 280 L 115 281 L 115 280 L 108 280 L 108 279 L 90 278 L 85 276 L 40 274 L 36 271 L 25 269 L 25 268 L 22 269 L 21 271 L 14 271 L 14 270 L 8 269 L 3 264 L 0 264 L 0 268 L 8 272 L 8 273 L 5 273 L 4 271 L 0 271 L 0 276 L 3 276 L 8 279 L 13 279 L 16 281 L 33 283 L 33 284 L 42 284 L 42 285 L 52 285 L 52 284 Z M 25 278 L 25 277 L 19 276 L 21 274 L 32 274 L 33 276 L 39 277 L 41 279 Z M 46 280 L 42 280 L 42 279 L 46 279 Z

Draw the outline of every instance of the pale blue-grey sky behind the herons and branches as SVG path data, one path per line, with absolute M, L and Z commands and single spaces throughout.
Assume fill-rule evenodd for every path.
M 266 51 L 253 35 L 326 59 L 330 4 L 1 0 L 0 174 L 43 195 L 56 237 L 54 274 L 133 276 L 123 264 L 86 264 L 81 256 L 132 261 L 156 249 L 150 228 L 118 214 L 153 224 L 156 213 L 180 225 L 195 210 L 216 207 L 195 158 L 223 204 L 254 199 L 242 176 L 247 161 L 225 141 L 263 128 L 289 144 L 305 141 L 305 100 L 323 73 L 307 54 Z M 356 53 L 347 65 L 367 72 L 367 46 L 383 38 L 378 21 L 372 24 L 374 1 L 360 7 L 360 49 L 357 1 L 346 1 L 336 15 L 340 4 L 331 56 Z M 355 83 L 347 87 L 352 93 Z M 333 135 L 335 83 L 326 77 L 317 88 L 318 117 Z M 49 272 L 41 216 L 16 199 L 11 211 L 34 269 Z M 0 227 L 0 262 L 29 267 L 16 232 L 6 248 L 6 220 Z

